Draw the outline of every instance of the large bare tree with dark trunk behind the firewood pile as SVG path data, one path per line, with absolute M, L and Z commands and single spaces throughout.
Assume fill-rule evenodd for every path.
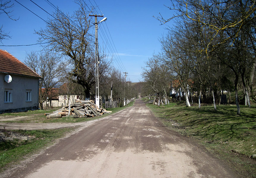
M 45 29 L 36 33 L 40 42 L 48 42 L 48 49 L 54 50 L 67 58 L 72 66 L 70 75 L 76 77 L 73 82 L 83 86 L 86 98 L 90 98 L 91 88 L 95 84 L 94 37 L 91 35 L 94 24 L 90 20 L 90 9 L 82 0 L 75 0 L 79 9 L 72 15 L 64 15 L 60 11 L 48 20 Z M 99 60 L 102 68 L 109 65 Z M 101 69 L 104 72 L 105 70 Z M 100 75 L 100 74 L 99 74 Z

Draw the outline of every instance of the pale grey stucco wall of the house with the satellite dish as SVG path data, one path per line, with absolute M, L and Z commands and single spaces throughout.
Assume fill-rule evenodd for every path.
M 0 113 L 18 112 L 23 110 L 37 109 L 38 107 L 38 78 L 23 75 L 10 74 L 12 81 L 4 81 L 6 73 L 0 73 Z M 12 89 L 12 102 L 4 102 L 4 90 Z M 31 101 L 26 101 L 26 90 L 31 90 Z

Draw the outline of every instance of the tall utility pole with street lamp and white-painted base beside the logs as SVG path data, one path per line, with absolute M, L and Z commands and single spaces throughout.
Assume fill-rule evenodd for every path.
M 99 46 L 98 46 L 98 24 L 106 21 L 107 18 L 103 18 L 99 22 L 97 17 L 103 17 L 103 15 L 89 15 L 95 17 L 95 104 L 99 107 Z

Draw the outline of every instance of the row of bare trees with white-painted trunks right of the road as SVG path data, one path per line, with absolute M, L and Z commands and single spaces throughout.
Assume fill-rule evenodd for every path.
M 162 24 L 174 22 L 168 34 L 160 39 L 162 50 L 153 55 L 143 70 L 145 82 L 158 96 L 178 82 L 186 105 L 189 95 L 201 98 L 210 91 L 214 109 L 216 98 L 235 91 L 237 114 L 240 115 L 238 89 L 245 103 L 256 102 L 256 4 L 255 1 L 171 1 L 174 15 L 156 17 Z

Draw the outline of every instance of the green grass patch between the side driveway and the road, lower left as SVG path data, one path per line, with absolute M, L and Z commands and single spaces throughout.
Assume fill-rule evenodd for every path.
M 25 156 L 36 153 L 43 147 L 50 145 L 54 140 L 74 128 L 61 128 L 53 130 L 17 130 L 16 133 L 33 136 L 30 140 L 11 140 L 0 142 L 0 172 L 11 164 L 18 163 Z

